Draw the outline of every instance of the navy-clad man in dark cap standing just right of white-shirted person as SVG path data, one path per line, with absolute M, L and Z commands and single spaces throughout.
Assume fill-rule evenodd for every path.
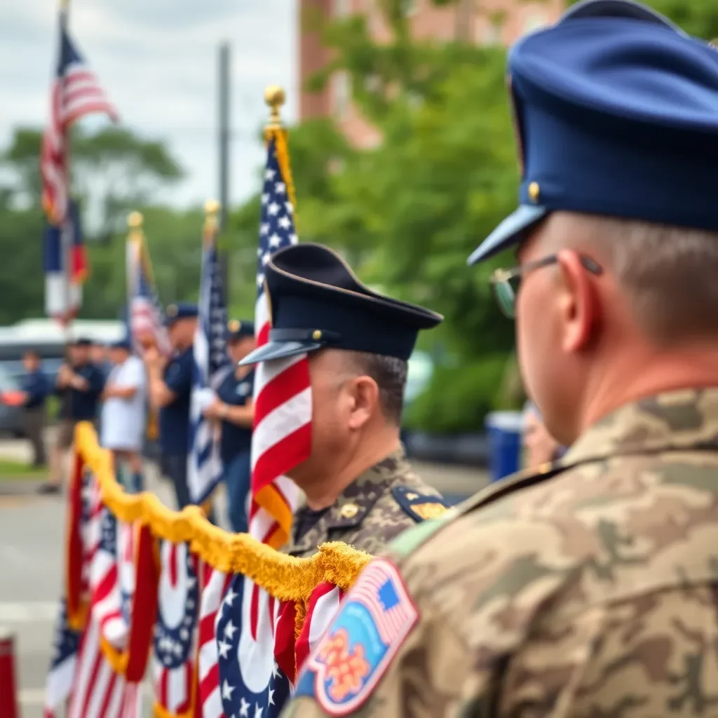
M 191 503 L 187 487 L 187 450 L 197 306 L 170 304 L 166 314 L 172 356 L 167 360 L 153 346 L 145 350 L 144 363 L 149 401 L 154 409 L 159 410 L 159 447 L 163 470 L 174 485 L 177 507 L 181 509 Z

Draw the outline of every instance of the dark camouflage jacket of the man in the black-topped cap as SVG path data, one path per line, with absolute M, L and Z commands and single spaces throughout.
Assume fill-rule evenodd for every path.
M 299 508 L 294 526 L 299 525 Z M 437 516 L 444 500 L 427 486 L 397 449 L 353 481 L 329 510 L 304 533 L 281 551 L 290 556 L 312 556 L 326 541 L 343 541 L 369 554 L 378 554 L 386 544 L 422 518 Z

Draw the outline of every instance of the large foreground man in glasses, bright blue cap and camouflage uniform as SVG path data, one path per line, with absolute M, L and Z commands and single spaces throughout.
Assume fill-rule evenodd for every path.
M 571 449 L 372 561 L 286 716 L 718 716 L 718 53 L 597 0 L 509 70 L 522 206 L 471 261 L 516 251 Z

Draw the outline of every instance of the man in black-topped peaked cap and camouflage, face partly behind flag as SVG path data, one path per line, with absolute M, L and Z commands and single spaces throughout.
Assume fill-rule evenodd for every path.
M 276 252 L 265 277 L 271 335 L 242 363 L 308 353 L 312 383 L 312 454 L 288 472 L 306 503 L 283 551 L 312 556 L 344 541 L 377 553 L 445 510 L 399 442 L 406 362 L 419 330 L 442 317 L 372 292 L 316 244 Z

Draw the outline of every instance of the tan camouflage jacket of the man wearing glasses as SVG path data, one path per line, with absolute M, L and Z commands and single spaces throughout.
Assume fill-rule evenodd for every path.
M 416 623 L 388 667 L 360 664 L 361 687 L 334 691 L 337 706 L 358 698 L 355 715 L 717 716 L 718 389 L 615 411 L 559 465 L 489 487 L 389 554 L 367 571 L 395 572 Z M 343 618 L 354 656 L 367 634 Z M 337 633 L 286 714 L 347 714 L 312 671 Z

